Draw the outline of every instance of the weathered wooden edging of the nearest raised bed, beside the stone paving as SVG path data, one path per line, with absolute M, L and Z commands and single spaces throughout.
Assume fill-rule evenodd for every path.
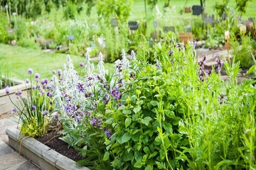
M 84 169 L 87 167 L 77 167 L 75 161 L 59 154 L 32 137 L 20 138 L 20 131 L 16 128 L 8 128 L 6 134 L 9 138 L 10 146 L 24 155 L 42 169 Z

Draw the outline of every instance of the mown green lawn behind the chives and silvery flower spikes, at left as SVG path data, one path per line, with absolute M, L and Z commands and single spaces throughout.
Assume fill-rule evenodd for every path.
M 27 70 L 32 68 L 34 73 L 38 72 L 41 78 L 50 79 L 52 70 L 62 68 L 66 63 L 66 54 L 44 53 L 40 50 L 24 48 L 20 46 L 10 46 L 0 43 L 0 65 L 5 70 L 9 69 L 11 77 L 25 80 L 28 78 Z M 80 71 L 80 62 L 84 62 L 85 58 L 79 56 L 71 56 L 76 70 Z M 93 62 L 97 69 L 97 61 Z M 113 72 L 113 64 L 105 63 L 105 68 Z M 84 71 L 83 69 L 81 71 Z M 5 71 L 2 72 L 5 75 Z

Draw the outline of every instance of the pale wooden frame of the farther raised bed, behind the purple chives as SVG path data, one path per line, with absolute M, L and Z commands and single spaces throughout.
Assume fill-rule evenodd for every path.
M 2 80 L 5 80 L 4 76 L 2 76 Z M 15 92 L 18 90 L 26 91 L 28 89 L 28 84 L 26 86 L 24 81 L 18 79 L 11 78 L 10 80 L 14 86 L 9 87 L 9 90 L 11 91 L 9 96 L 12 102 L 16 103 L 18 100 L 16 99 Z M 5 90 L 6 88 L 0 89 L 0 114 L 10 113 L 13 109 L 13 104 Z

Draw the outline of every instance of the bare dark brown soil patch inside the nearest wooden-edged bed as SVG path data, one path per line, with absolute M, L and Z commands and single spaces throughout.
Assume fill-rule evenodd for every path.
M 44 143 L 47 145 L 47 147 L 76 162 L 82 160 L 82 155 L 78 154 L 78 151 L 76 151 L 73 147 L 68 148 L 68 143 L 60 140 L 59 137 L 61 136 L 57 131 L 52 131 L 43 137 L 37 138 L 36 140 Z

